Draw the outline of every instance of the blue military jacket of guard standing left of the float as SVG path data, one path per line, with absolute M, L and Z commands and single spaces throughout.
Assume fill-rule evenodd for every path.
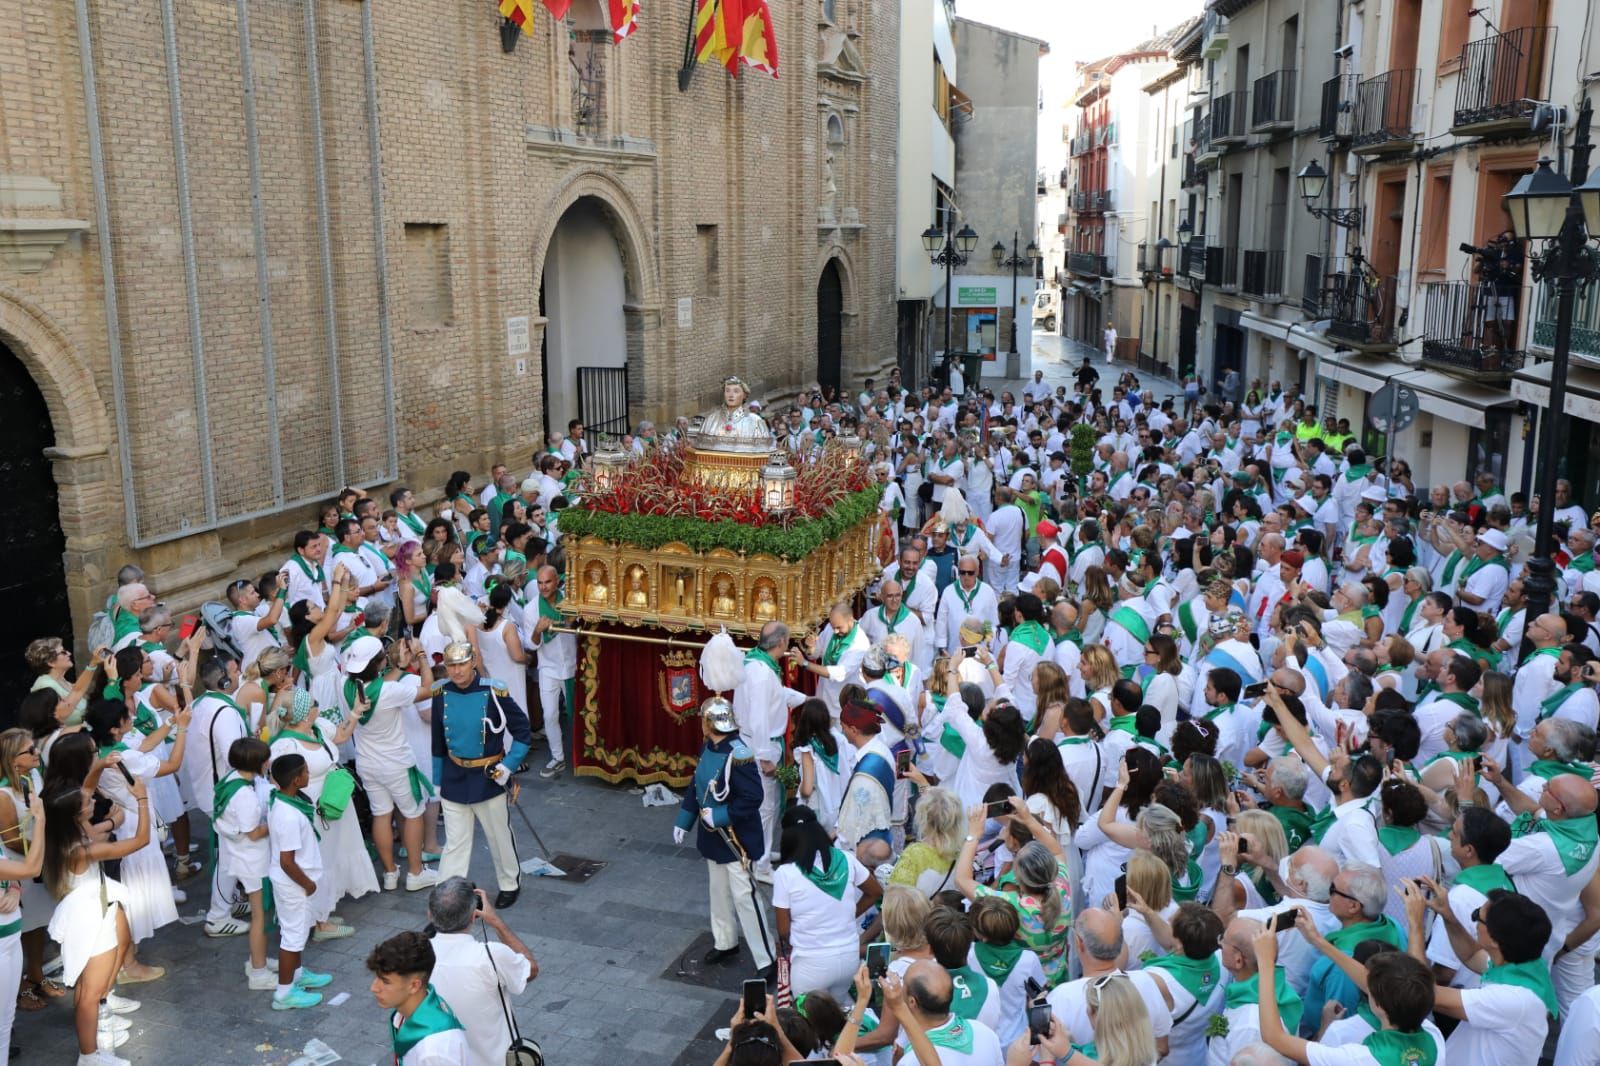
M 434 682 L 432 717 L 434 784 L 440 797 L 453 804 L 482 804 L 504 792 L 485 770 L 498 763 L 515 770 L 533 744 L 528 715 L 498 680 L 477 677 L 466 688 L 448 680 Z M 488 767 L 458 767 L 451 755 L 504 757 Z

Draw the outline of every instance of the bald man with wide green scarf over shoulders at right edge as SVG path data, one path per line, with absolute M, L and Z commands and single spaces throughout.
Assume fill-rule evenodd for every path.
M 1560 773 L 1550 778 L 1534 804 L 1512 787 L 1493 759 L 1485 757 L 1483 767 L 1483 776 L 1501 791 L 1506 804 L 1517 815 L 1530 815 L 1512 823 L 1512 840 L 1501 852 L 1499 864 L 1517 884 L 1517 892 L 1550 916 L 1550 941 L 1544 949 L 1544 959 L 1550 962 L 1566 935 L 1582 922 L 1579 893 L 1600 864 L 1595 852 L 1595 789 L 1576 773 Z M 1550 962 L 1550 976 L 1565 1008 L 1594 984 L 1594 952 L 1562 954 Z

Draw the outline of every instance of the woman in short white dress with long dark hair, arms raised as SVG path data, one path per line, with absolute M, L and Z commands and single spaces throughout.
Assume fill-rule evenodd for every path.
M 131 784 L 125 781 L 138 812 L 131 831 L 104 842 L 90 839 L 101 771 L 118 762 L 115 754 L 96 759 L 82 787 L 53 791 L 42 812 L 45 885 L 56 898 L 50 936 L 61 944 L 61 981 L 70 984 L 74 992 L 80 1066 L 106 1061 L 99 1055 L 101 1040 L 110 1048 L 126 1042 L 130 1026 L 118 1015 L 139 1007 L 136 1000 L 112 994 L 123 959 L 133 954 L 133 932 L 128 925 L 128 890 L 106 877 L 99 864 L 106 860 L 126 863 L 150 845 L 150 800 L 142 778 L 134 778 Z

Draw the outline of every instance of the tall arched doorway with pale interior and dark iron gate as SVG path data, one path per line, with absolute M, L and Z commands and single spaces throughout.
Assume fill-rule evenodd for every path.
M 544 424 L 627 429 L 627 271 L 605 202 L 579 197 L 555 224 L 539 280 Z

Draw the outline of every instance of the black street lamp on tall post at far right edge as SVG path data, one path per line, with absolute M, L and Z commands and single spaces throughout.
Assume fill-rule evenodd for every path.
M 1600 235 L 1600 181 L 1589 174 L 1589 122 L 1594 107 L 1587 98 L 1578 112 L 1571 173 L 1562 174 L 1541 158 L 1533 173 L 1502 197 L 1518 240 L 1542 242 L 1528 259 L 1536 282 L 1555 283 L 1555 344 L 1550 351 L 1550 405 L 1546 413 L 1544 466 L 1539 469 L 1539 519 L 1534 527 L 1533 557 L 1523 579 L 1528 618 L 1550 610 L 1555 595 L 1555 562 L 1550 538 L 1555 533 L 1555 448 L 1562 447 L 1566 423 L 1566 363 L 1573 343 L 1578 283 L 1600 277 L 1589 234 Z M 1578 186 L 1576 189 L 1573 186 Z M 1584 224 L 1587 221 L 1587 232 Z M 1523 643 L 1523 647 L 1528 647 Z

